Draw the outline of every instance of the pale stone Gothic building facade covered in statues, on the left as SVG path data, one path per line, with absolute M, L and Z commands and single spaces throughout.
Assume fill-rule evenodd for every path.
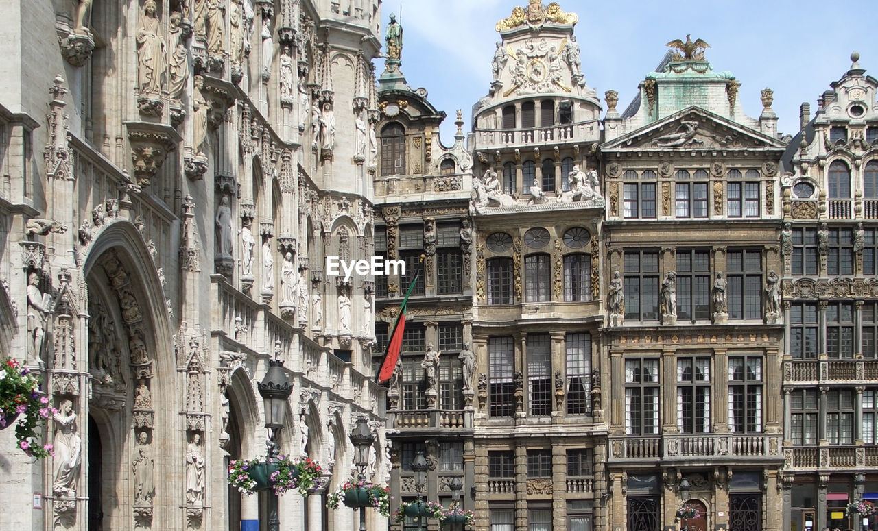
M 385 391 L 373 285 L 324 258 L 372 254 L 379 7 L 4 4 L 0 348 L 58 413 L 45 460 L 0 432 L 0 527 L 353 526 L 327 492 L 360 419 L 385 481 Z M 280 452 L 324 469 L 277 515 L 227 481 L 265 455 L 272 359 L 293 386 Z

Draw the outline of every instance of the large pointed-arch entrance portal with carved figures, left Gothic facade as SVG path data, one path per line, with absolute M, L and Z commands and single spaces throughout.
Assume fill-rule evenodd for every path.
M 119 225 L 95 242 L 85 267 L 91 385 L 78 399 L 88 419 L 82 486 L 90 531 L 163 527 L 176 517 L 164 507 L 179 504 L 176 485 L 156 481 L 179 468 L 182 451 L 171 436 L 180 408 L 169 320 L 139 235 Z

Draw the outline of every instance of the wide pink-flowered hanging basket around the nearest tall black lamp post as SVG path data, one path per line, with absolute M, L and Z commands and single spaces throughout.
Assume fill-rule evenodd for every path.
M 322 473 L 320 465 L 310 458 L 257 457 L 229 463 L 228 482 L 248 496 L 270 489 L 277 495 L 299 489 L 299 494 L 305 497 L 311 489 L 319 486 Z

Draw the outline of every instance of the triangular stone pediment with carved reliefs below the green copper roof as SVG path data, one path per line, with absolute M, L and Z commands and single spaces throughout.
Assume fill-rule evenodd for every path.
M 689 107 L 601 146 L 608 149 L 735 149 L 776 147 L 781 140 L 742 126 L 728 118 Z

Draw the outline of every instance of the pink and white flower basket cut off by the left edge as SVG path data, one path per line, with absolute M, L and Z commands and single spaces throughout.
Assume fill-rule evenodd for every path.
M 40 393 L 40 378 L 30 368 L 22 367 L 14 358 L 0 359 L 0 429 L 10 427 L 22 413 L 15 426 L 18 448 L 37 459 L 54 456 L 51 444 L 37 442 L 37 428 L 58 410 L 50 407 L 49 399 Z

